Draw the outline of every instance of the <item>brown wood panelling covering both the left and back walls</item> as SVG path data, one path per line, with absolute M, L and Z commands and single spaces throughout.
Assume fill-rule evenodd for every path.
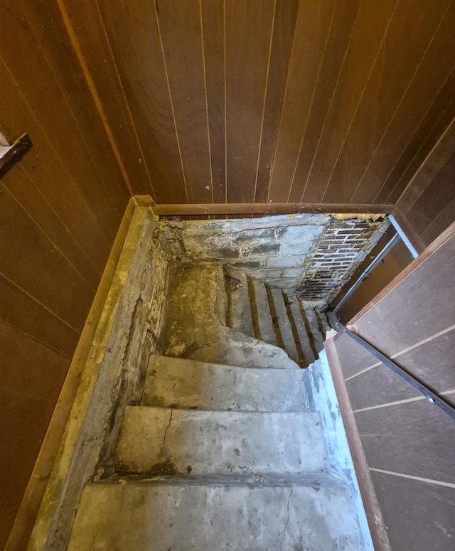
M 0 132 L 33 142 L 0 177 L 0 546 L 129 196 L 395 204 L 454 116 L 454 28 L 450 0 L 0 2 Z

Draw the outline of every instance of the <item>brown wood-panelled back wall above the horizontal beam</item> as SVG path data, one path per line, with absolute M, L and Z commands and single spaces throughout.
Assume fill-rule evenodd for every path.
M 453 117 L 450 0 L 54 1 L 157 203 L 394 204 Z

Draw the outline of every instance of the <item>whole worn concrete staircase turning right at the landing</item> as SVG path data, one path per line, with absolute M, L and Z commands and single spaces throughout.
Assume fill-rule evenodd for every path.
M 316 355 L 304 330 L 318 314 L 239 276 L 174 272 L 164 355 L 127 407 L 116 472 L 82 493 L 68 550 L 365 548 L 297 363 Z

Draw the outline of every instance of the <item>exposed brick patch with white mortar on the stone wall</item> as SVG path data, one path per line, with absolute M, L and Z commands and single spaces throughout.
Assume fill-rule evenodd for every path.
M 332 219 L 314 255 L 306 261 L 296 294 L 305 300 L 331 301 L 380 240 L 387 223 Z

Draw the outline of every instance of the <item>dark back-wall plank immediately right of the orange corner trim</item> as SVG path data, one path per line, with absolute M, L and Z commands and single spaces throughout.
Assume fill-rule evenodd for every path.
M 139 144 L 135 121 L 124 95 L 122 81 L 119 78 L 112 48 L 100 18 L 97 2 L 91 0 L 65 0 L 63 2 L 46 0 L 46 6 L 55 21 L 61 17 L 61 9 L 68 15 L 66 24 L 72 28 L 74 39 L 80 48 L 80 55 L 87 65 L 89 77 L 95 88 L 93 93 L 99 98 L 100 105 L 98 107 L 102 110 L 102 116 L 107 120 L 112 138 L 119 149 L 127 171 L 129 186 L 133 188 L 134 193 L 154 195 L 149 167 L 144 159 L 141 144 Z M 64 43 L 68 41 L 64 33 L 62 41 Z M 72 48 L 66 49 L 71 60 Z M 77 73 L 77 65 L 74 70 Z

